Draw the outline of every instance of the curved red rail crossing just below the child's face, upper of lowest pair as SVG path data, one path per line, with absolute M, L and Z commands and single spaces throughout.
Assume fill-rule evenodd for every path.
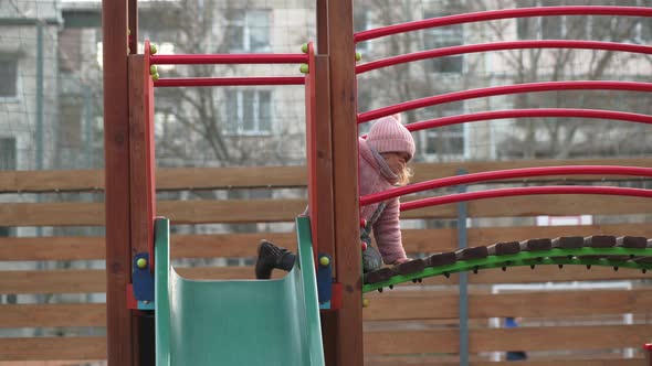
M 651 176 L 652 168 L 643 166 L 614 166 L 614 165 L 567 165 L 567 166 L 537 166 L 507 169 L 491 172 L 480 172 L 464 175 L 446 176 L 391 189 L 385 192 L 368 194 L 360 197 L 360 206 L 370 205 L 406 194 L 441 189 L 459 184 L 469 184 L 486 181 L 497 181 L 513 177 L 532 177 L 543 175 L 633 175 Z M 652 192 L 652 191 L 651 191 Z

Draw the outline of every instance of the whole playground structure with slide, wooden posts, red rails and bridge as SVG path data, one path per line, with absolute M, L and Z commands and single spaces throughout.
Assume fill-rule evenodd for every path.
M 136 1 L 133 2 L 134 4 Z M 105 19 L 113 20 L 118 6 L 105 1 Z M 395 106 L 377 110 L 357 114 L 355 110 L 355 78 L 356 73 L 362 73 L 377 67 L 397 65 L 402 62 L 423 60 L 435 56 L 452 55 L 466 52 L 484 52 L 494 50 L 518 47 L 586 47 L 598 50 L 613 50 L 624 52 L 652 53 L 650 46 L 622 46 L 607 42 L 517 42 L 509 44 L 494 44 L 477 47 L 458 47 L 424 52 L 403 57 L 395 57 L 376 64 L 355 66 L 354 43 L 375 37 L 397 34 L 400 32 L 419 29 L 462 24 L 467 22 L 520 18 L 520 17 L 549 17 L 549 15 L 623 15 L 623 17 L 652 17 L 650 8 L 625 7 L 549 7 L 518 10 L 488 11 L 473 14 L 443 17 L 378 30 L 360 32 L 354 36 L 351 20 L 351 1 L 327 1 L 318 7 L 318 22 L 326 24 L 318 33 L 317 49 L 315 53 L 312 44 L 306 47 L 304 55 L 187 55 L 187 56 L 154 56 L 151 47 L 146 43 L 145 56 L 134 58 L 133 74 L 129 88 L 137 88 L 137 100 L 129 106 L 135 111 L 136 119 L 141 125 L 134 133 L 130 141 L 132 153 L 124 160 L 124 141 L 115 139 L 125 132 L 125 126 L 115 123 L 119 118 L 111 112 L 105 116 L 106 157 L 107 157 L 107 184 L 106 184 L 106 212 L 107 212 L 107 243 L 122 243 L 122 245 L 107 246 L 108 272 L 108 317 L 128 319 L 128 304 L 119 300 L 120 291 L 124 291 L 128 280 L 128 269 L 138 270 L 156 269 L 156 295 L 154 306 L 157 316 L 157 359 L 160 364 L 170 365 L 209 365 L 215 362 L 223 364 L 259 364 L 262 360 L 267 364 L 278 365 L 320 365 L 332 363 L 335 365 L 361 365 L 361 305 L 362 293 L 393 287 L 395 284 L 421 280 L 427 277 L 450 274 L 453 272 L 477 271 L 490 268 L 503 268 L 514 266 L 539 265 L 581 265 L 581 266 L 609 266 L 618 268 L 634 268 L 648 270 L 652 263 L 645 258 L 651 255 L 649 240 L 642 237 L 559 237 L 555 239 L 533 239 L 526 241 L 499 243 L 490 247 L 464 248 L 456 252 L 433 255 L 427 259 L 428 267 L 414 273 L 395 273 L 379 277 L 379 281 L 367 281 L 362 286 L 359 262 L 360 252 L 358 246 L 351 246 L 350 241 L 359 237 L 356 213 L 359 205 L 387 200 L 389 196 L 402 195 L 408 192 L 430 190 L 435 186 L 452 184 L 466 184 L 483 180 L 502 177 L 527 177 L 541 174 L 627 174 L 637 176 L 652 176 L 652 170 L 634 166 L 568 166 L 549 168 L 541 170 L 520 170 L 516 172 L 490 172 L 486 174 L 451 177 L 442 181 L 424 182 L 406 189 L 397 189 L 387 194 L 372 197 L 357 196 L 356 164 L 351 163 L 356 154 L 355 139 L 356 121 L 358 123 L 370 121 L 383 116 L 402 112 L 438 104 L 465 100 L 470 98 L 506 95 L 515 93 L 534 93 L 549 90 L 580 90 L 580 89 L 617 89 L 634 92 L 652 92 L 649 83 L 632 82 L 555 82 L 512 85 L 501 87 L 466 90 L 448 95 L 433 96 L 424 99 L 406 101 Z M 349 17 L 335 17 L 335 14 L 348 14 Z M 135 11 L 132 12 L 135 18 Z M 124 17 L 116 17 L 125 21 Z M 129 18 L 133 24 L 133 18 Z M 115 29 L 127 29 L 127 24 L 114 24 Z M 122 31 L 120 31 L 122 32 Z M 105 29 L 105 39 L 115 39 L 123 34 Z M 126 37 L 125 37 L 126 40 Z M 119 42 L 116 42 L 119 43 Z M 105 57 L 116 50 L 112 50 L 113 43 L 105 42 Z M 118 47 L 119 49 L 119 47 Z M 124 49 L 123 49 L 124 50 Z M 130 47 L 135 50 L 135 47 Z M 118 53 L 116 53 L 118 54 Z M 225 63 L 305 63 L 308 75 L 304 77 L 274 77 L 274 78 L 196 78 L 196 79 L 166 79 L 150 72 L 157 63 L 198 63 L 198 62 L 225 62 Z M 118 82 L 112 79 L 114 74 L 127 75 L 122 66 L 109 66 L 105 62 L 105 98 L 115 103 L 114 96 L 118 88 L 125 88 Z M 329 75 L 329 77 L 328 77 Z M 144 87 L 143 87 L 144 83 Z M 154 155 L 153 155 L 153 126 L 151 110 L 154 108 L 153 88 L 172 86 L 229 86 L 229 85 L 280 85 L 304 84 L 306 86 L 306 121 L 308 141 L 308 170 L 309 170 L 309 224 L 307 218 L 297 219 L 298 243 L 301 260 L 290 276 L 274 281 L 189 281 L 175 273 L 167 259 L 167 229 L 166 220 L 157 222 L 155 240 L 155 197 L 156 184 L 154 182 Z M 136 86 L 138 85 L 138 86 Z M 115 106 L 112 109 L 119 109 Z M 127 109 L 127 108 L 125 108 Z M 108 108 L 105 108 L 108 110 Z M 148 115 L 149 114 L 149 115 Z M 571 110 L 546 109 L 540 111 L 490 111 L 484 114 L 461 116 L 456 118 L 423 121 L 411 126 L 418 128 L 432 128 L 446 123 L 484 120 L 488 118 L 524 117 L 529 115 L 558 116 L 558 117 L 596 117 L 614 118 L 625 121 L 650 123 L 649 116 L 612 112 L 601 110 Z M 123 129 L 123 130 L 120 130 Z M 326 132 L 324 132 L 326 131 Z M 125 172 L 125 170 L 127 170 Z M 118 181 L 122 173 L 126 174 L 128 182 Z M 351 186 L 354 187 L 351 190 Z M 125 192 L 126 191 L 126 192 Z M 347 193 L 345 193 L 347 192 Z M 129 201 L 116 200 L 124 194 Z M 128 194 L 125 194 L 128 193 Z M 546 186 L 523 187 L 509 190 L 495 190 L 482 192 L 460 193 L 456 195 L 441 196 L 414 201 L 402 205 L 402 209 L 419 208 L 439 204 L 455 203 L 469 200 L 482 200 L 524 194 L 610 194 L 630 195 L 639 197 L 652 197 L 649 190 L 622 189 L 622 187 L 596 187 L 596 186 Z M 360 200 L 358 202 L 358 200 Z M 376 200 L 376 201 L 375 201 Z M 128 212 L 130 215 L 126 215 Z M 308 229 L 309 226 L 309 229 Z M 126 237 L 124 237 L 126 236 Z M 312 236 L 312 246 L 307 239 Z M 124 240 L 123 240 L 124 239 Z M 154 246 L 156 243 L 156 247 Z M 314 251 L 314 255 L 313 252 Z M 132 254 L 134 258 L 132 258 Z M 155 255 L 156 254 L 156 255 Z M 336 273 L 330 276 L 312 276 L 316 269 L 312 266 L 312 257 L 324 256 L 333 258 L 332 267 Z M 598 258 L 596 258 L 598 257 Z M 145 261 L 140 260 L 144 259 Z M 115 262 L 124 267 L 114 266 Z M 130 266 L 133 263 L 133 266 Z M 115 270 L 113 270 L 115 268 Z M 123 271 L 120 273 L 120 270 Z M 387 272 L 387 270 L 386 270 Z M 329 272 L 327 272 L 329 273 Z M 126 274 L 126 276 L 125 276 Z M 147 274 L 147 273 L 145 273 Z M 135 301 L 129 302 L 133 309 L 151 310 L 149 302 L 154 289 L 148 288 L 150 281 L 139 282 L 140 277 L 134 277 L 133 292 Z M 128 282 L 128 281 L 126 281 Z M 317 298 L 317 287 L 325 298 Z M 218 300 L 218 294 L 228 294 Z M 266 295 L 266 297 L 265 297 Z M 317 300 L 318 299 L 318 300 Z M 169 303 L 168 303 L 169 302 Z M 318 302 L 318 303 L 317 303 Z M 320 304 L 326 304 L 322 317 L 317 312 Z M 265 323 L 269 312 L 276 311 L 276 321 Z M 228 315 L 224 317 L 224 313 Z M 231 319 L 229 319 L 232 316 Z M 265 325 L 260 324 L 262 322 Z M 322 329 L 317 324 L 322 323 Z M 280 331 L 278 327 L 290 325 Z M 125 324 L 109 321 L 108 326 L 108 355 L 109 365 L 126 365 L 134 362 L 133 345 L 134 334 L 130 321 Z M 144 329 L 145 330 L 145 329 Z M 233 333 L 241 332 L 243 337 L 234 337 Z M 249 344 L 244 343 L 250 340 Z M 273 341 L 272 341 L 273 340 Z M 278 353 L 256 354 L 249 346 L 252 343 L 263 342 L 262 347 L 274 348 Z M 270 344 L 270 341 L 274 344 Z M 324 346 L 322 347 L 322 343 Z M 120 348 L 122 347 L 122 348 Z M 125 351 L 126 349 L 126 351 Z M 259 348 L 262 349 L 262 348 Z M 467 351 L 467 349 L 466 349 Z M 218 359 L 214 359 L 214 358 Z M 290 357 L 290 358 L 287 358 Z M 461 352 L 461 364 L 467 364 L 467 355 Z

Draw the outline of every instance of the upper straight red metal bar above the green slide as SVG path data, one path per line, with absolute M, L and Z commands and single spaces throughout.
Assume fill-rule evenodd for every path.
M 307 63 L 306 54 L 214 54 L 214 55 L 151 55 L 153 65 L 200 64 L 301 64 Z

